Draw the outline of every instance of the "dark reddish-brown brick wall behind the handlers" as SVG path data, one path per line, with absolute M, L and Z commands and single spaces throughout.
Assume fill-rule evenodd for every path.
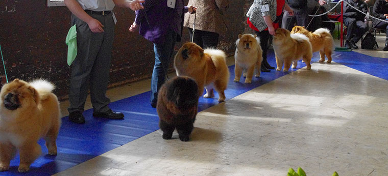
M 233 42 L 238 34 L 244 32 L 246 4 L 230 2 L 225 14 L 230 32 L 220 35 L 219 48 L 233 54 Z M 118 21 L 112 50 L 110 87 L 149 78 L 155 61 L 153 44 L 128 31 L 135 13 L 118 7 L 114 13 Z M 66 98 L 69 67 L 65 39 L 69 27 L 70 12 L 66 7 L 46 7 L 45 0 L 0 1 L 0 45 L 8 79 L 46 78 L 56 84 L 55 94 L 60 99 Z M 189 41 L 187 29 L 184 28 L 183 32 L 182 41 Z M 177 43 L 176 49 L 181 45 Z M 3 65 L 0 68 L 4 84 Z

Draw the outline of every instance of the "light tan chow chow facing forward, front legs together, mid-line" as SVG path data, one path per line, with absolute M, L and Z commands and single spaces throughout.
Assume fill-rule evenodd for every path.
M 262 50 L 260 46 L 259 38 L 256 38 L 257 35 L 244 34 L 238 35 L 236 41 L 236 52 L 234 52 L 234 82 L 240 81 L 241 72 L 243 71 L 243 76 L 245 77 L 245 83 L 251 83 L 253 72 L 256 74 L 255 77 L 260 77 L 260 66 L 262 58 Z

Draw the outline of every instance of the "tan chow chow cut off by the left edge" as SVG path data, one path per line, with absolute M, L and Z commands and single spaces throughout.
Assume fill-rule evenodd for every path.
M 27 172 L 40 155 L 37 141 L 44 138 L 48 155 L 57 155 L 56 139 L 61 125 L 54 85 L 43 79 L 25 82 L 15 79 L 0 92 L 0 171 L 8 170 L 16 150 L 19 172 Z

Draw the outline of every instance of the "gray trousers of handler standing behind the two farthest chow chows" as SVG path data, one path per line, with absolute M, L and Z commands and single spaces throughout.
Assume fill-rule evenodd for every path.
M 300 10 L 294 10 L 294 16 L 289 15 L 287 11 L 284 11 L 282 18 L 282 28 L 285 28 L 288 31 L 291 31 L 294 27 L 294 23 L 297 23 L 299 26 L 308 25 L 308 9 L 306 8 Z

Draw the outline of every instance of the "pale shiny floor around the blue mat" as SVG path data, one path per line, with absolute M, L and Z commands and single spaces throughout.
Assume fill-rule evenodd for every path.
M 379 42 L 380 51 L 355 51 L 386 57 Z M 143 80 L 107 94 L 116 101 L 149 87 Z M 176 132 L 164 140 L 157 130 L 55 175 L 269 176 L 290 167 L 308 176 L 387 175 L 387 87 L 388 80 L 341 64 L 313 63 L 311 71 L 299 69 L 199 112 L 189 142 Z M 64 116 L 67 104 L 61 102 Z

